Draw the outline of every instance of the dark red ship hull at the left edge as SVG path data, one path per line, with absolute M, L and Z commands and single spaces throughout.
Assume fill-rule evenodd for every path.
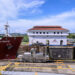
M 15 59 L 22 37 L 3 37 L 0 39 L 0 59 Z

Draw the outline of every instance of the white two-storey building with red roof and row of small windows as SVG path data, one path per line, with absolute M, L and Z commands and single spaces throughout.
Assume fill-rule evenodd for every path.
M 49 45 L 67 45 L 69 30 L 61 26 L 34 26 L 28 30 L 29 44 L 49 42 Z

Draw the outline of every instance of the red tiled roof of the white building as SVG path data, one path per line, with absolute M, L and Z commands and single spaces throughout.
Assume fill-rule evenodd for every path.
M 29 30 L 67 30 L 61 26 L 34 26 Z

